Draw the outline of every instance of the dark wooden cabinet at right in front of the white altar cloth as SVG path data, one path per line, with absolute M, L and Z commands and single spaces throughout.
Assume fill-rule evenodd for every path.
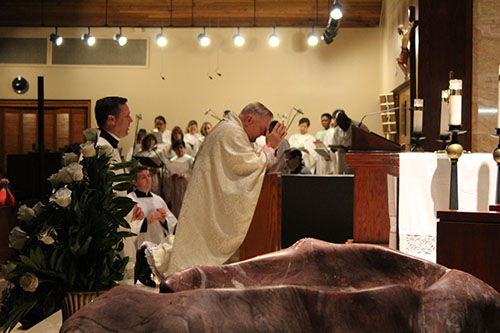
M 437 216 L 437 262 L 500 292 L 500 214 L 450 211 Z

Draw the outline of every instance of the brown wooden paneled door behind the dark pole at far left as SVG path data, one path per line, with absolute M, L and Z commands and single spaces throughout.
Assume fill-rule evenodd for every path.
M 45 149 L 61 151 L 64 146 L 83 141 L 90 127 L 90 100 L 45 103 Z M 26 154 L 38 149 L 38 102 L 0 100 L 0 168 L 6 173 L 8 154 Z

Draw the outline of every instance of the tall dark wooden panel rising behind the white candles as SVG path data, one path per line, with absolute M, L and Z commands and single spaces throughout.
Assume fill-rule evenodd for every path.
M 471 149 L 472 119 L 472 0 L 419 1 L 418 96 L 424 99 L 423 147 L 440 148 L 441 90 L 447 89 L 448 73 L 462 80 L 462 129 L 464 149 Z M 460 24 L 457 24 L 460 22 Z M 422 84 L 423 83 L 423 84 Z

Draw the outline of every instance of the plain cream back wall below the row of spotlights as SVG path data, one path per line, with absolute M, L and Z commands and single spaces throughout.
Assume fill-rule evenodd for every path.
M 63 37 L 79 37 L 86 29 L 59 28 Z M 117 29 L 92 29 L 97 38 L 111 38 Z M 278 28 L 281 44 L 267 44 L 270 29 L 241 29 L 247 41 L 243 48 L 232 44 L 236 29 L 207 29 L 212 44 L 202 49 L 196 40 L 198 28 L 165 29 L 169 40 L 164 49 L 156 46 L 154 36 L 159 29 L 123 30 L 129 38 L 149 38 L 148 66 L 68 67 L 0 65 L 1 99 L 36 99 L 37 76 L 45 80 L 46 99 L 91 99 L 120 95 L 129 99 L 132 113 L 141 113 L 140 127 L 152 129 L 153 119 L 162 114 L 167 127 L 185 128 L 190 119 L 215 123 L 204 116 L 208 108 L 222 114 L 231 109 L 238 112 L 248 102 L 261 101 L 276 114 L 288 114 L 291 107 L 301 108 L 311 120 L 310 132 L 321 129 L 320 115 L 343 108 L 353 119 L 378 110 L 380 89 L 379 28 L 340 29 L 330 45 L 322 41 L 307 46 L 308 28 Z M 48 28 L 0 28 L 0 36 L 47 37 Z M 318 35 L 321 29 L 316 29 Z M 215 74 L 219 59 L 218 71 Z M 160 72 L 163 61 L 162 80 Z M 207 71 L 214 77 L 210 80 Z M 24 76 L 31 84 L 25 95 L 10 88 L 12 79 Z M 92 112 L 92 125 L 95 126 Z M 298 117 L 296 119 L 297 123 Z M 381 133 L 380 117 L 368 118 L 365 123 Z M 290 133 L 297 131 L 292 125 Z M 129 134 L 135 129 L 132 124 Z M 122 140 L 124 148 L 133 135 Z

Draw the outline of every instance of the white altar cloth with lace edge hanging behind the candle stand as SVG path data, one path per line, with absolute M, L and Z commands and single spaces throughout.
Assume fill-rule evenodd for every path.
M 401 153 L 399 163 L 399 250 L 436 262 L 436 212 L 449 209 L 450 160 L 446 154 Z M 488 211 L 497 169 L 492 154 L 460 157 L 459 210 Z

